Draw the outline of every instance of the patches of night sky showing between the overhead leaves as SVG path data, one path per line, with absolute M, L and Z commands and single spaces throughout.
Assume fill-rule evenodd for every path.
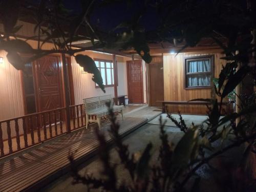
M 28 2 L 36 5 L 39 0 L 29 0 Z M 71 10 L 71 15 L 79 15 L 82 12 L 81 0 L 63 0 L 65 8 Z M 145 30 L 152 30 L 159 23 L 156 9 L 148 6 L 154 5 L 157 1 L 148 1 L 147 5 L 141 0 L 115 2 L 111 5 L 102 6 L 101 0 L 95 2 L 91 13 L 91 24 L 99 27 L 101 30 L 108 31 L 113 29 L 122 21 L 130 20 L 132 15 L 144 11 L 140 19 L 140 26 Z M 101 5 L 101 6 L 100 6 Z

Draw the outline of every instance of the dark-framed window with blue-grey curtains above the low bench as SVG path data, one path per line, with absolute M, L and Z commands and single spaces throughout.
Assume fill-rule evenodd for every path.
M 185 58 L 185 88 L 210 88 L 213 55 Z

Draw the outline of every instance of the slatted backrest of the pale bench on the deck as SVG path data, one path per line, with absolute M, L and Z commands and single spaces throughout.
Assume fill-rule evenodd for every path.
M 102 96 L 96 96 L 96 97 L 90 97 L 90 98 L 84 98 L 82 99 L 84 110 L 86 112 L 97 110 L 97 109 L 106 109 L 106 102 L 111 102 L 111 104 L 114 103 L 114 97 L 112 95 L 102 95 Z

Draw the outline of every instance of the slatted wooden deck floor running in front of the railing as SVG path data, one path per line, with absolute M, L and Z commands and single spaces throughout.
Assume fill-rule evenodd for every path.
M 144 109 L 144 111 L 146 111 Z M 151 111 L 151 112 L 150 112 Z M 147 109 L 147 116 L 155 117 L 159 112 Z M 141 114 L 141 113 L 140 113 Z M 132 114 L 131 114 L 132 115 Z M 125 136 L 145 124 L 148 119 L 126 116 L 119 120 L 120 134 Z M 109 124 L 102 127 L 106 133 Z M 106 136 L 108 142 L 111 138 Z M 98 140 L 91 129 L 80 129 L 61 138 L 44 143 L 18 156 L 0 160 L 0 191 L 37 191 L 69 170 L 69 153 L 74 154 L 77 164 L 96 154 Z

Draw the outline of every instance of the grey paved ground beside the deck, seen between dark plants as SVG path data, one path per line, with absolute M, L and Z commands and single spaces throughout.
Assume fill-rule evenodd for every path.
M 164 115 L 162 115 L 164 116 Z M 197 119 L 197 117 L 199 117 Z M 151 122 L 141 126 L 138 130 L 134 131 L 132 134 L 126 136 L 124 138 L 124 143 L 129 144 L 129 149 L 131 152 L 142 152 L 148 142 L 153 143 L 153 150 L 152 150 L 152 159 L 151 163 L 157 162 L 157 157 L 158 157 L 158 149 L 160 146 L 160 139 L 159 139 L 159 117 L 153 119 Z M 194 122 L 197 121 L 203 121 L 205 119 L 205 116 L 193 116 L 186 118 L 187 121 L 193 120 Z M 170 123 L 167 123 L 169 125 Z M 183 136 L 183 132 L 180 132 L 177 127 L 174 126 L 165 126 L 165 130 L 169 136 L 169 139 L 173 143 L 177 143 L 180 138 Z M 219 143 L 215 143 L 218 145 Z M 239 158 L 241 157 L 241 153 L 243 150 L 243 146 L 233 148 L 233 150 L 229 151 L 228 153 L 222 154 L 215 160 L 211 161 L 211 165 L 214 166 L 232 166 L 236 163 L 239 162 Z M 127 173 L 123 169 L 123 165 L 120 163 L 120 160 L 118 158 L 118 155 L 115 151 L 114 148 L 111 150 L 111 160 L 110 162 L 113 164 L 117 164 L 117 173 L 119 175 L 118 178 L 120 180 L 127 180 Z M 236 157 L 236 158 L 234 158 Z M 222 165 L 220 165 L 220 162 Z M 80 167 L 80 174 L 83 174 L 85 172 L 87 173 L 92 173 L 96 177 L 100 177 L 100 172 L 101 172 L 101 162 L 97 157 L 94 157 L 90 159 L 88 162 L 82 164 Z M 223 168 L 223 167 L 222 167 Z M 209 171 L 208 165 L 202 166 L 200 169 L 198 169 L 197 174 L 202 177 L 201 179 L 201 185 L 200 185 L 200 190 L 202 192 L 217 192 L 220 191 L 217 188 L 217 185 L 215 183 L 215 180 L 213 179 L 213 174 L 212 172 Z M 222 175 L 223 176 L 223 175 Z M 221 177 L 220 177 L 221 178 Z M 223 179 L 223 178 L 221 178 Z M 224 178 L 225 179 L 225 178 Z M 47 192 L 57 192 L 57 191 L 87 191 L 86 186 L 82 184 L 72 184 L 72 177 L 67 174 L 55 182 L 51 183 L 50 185 L 46 186 L 45 188 L 41 189 L 41 191 L 47 191 Z M 93 190 L 94 191 L 94 190 Z M 98 191 L 98 190 L 95 190 Z

